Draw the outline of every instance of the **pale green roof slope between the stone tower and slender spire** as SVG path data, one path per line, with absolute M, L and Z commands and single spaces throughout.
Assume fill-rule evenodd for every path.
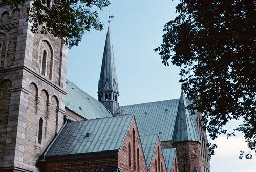
M 65 106 L 85 119 L 111 117 L 105 106 L 67 80 Z

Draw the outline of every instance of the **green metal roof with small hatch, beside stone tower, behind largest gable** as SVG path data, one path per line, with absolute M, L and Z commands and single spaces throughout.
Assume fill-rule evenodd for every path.
M 44 155 L 67 157 L 118 150 L 133 117 L 125 115 L 67 123 Z

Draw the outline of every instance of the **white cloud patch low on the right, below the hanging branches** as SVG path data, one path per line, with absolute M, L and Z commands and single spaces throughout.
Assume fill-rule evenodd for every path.
M 238 158 L 240 150 L 247 150 L 247 145 L 242 137 L 227 139 L 221 136 L 215 141 L 218 147 L 215 155 L 211 158 L 211 171 L 225 172 L 251 172 L 256 171 L 256 156 L 252 160 L 240 160 Z

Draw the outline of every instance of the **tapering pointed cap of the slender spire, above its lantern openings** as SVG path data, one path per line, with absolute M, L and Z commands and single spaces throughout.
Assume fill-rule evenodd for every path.
M 118 93 L 118 82 L 116 77 L 113 42 L 109 25 L 108 32 L 106 33 L 98 92 L 110 90 Z

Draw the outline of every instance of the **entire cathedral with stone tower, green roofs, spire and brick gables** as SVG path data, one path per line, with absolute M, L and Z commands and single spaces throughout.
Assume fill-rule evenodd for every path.
M 25 6 L 0 0 L 1 172 L 210 171 L 201 114 L 186 109 L 182 90 L 177 99 L 119 106 L 108 26 L 94 99 L 66 79 L 67 46 L 31 32 Z

